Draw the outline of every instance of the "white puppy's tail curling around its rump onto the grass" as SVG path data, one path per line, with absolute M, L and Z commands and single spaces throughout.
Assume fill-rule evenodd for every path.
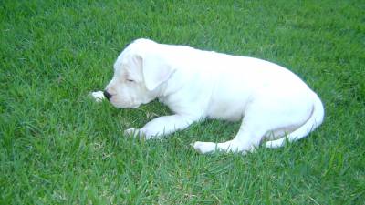
M 314 97 L 314 105 L 312 115 L 308 118 L 307 122 L 302 125 L 297 130 L 288 134 L 286 137 L 279 138 L 272 141 L 266 142 L 266 148 L 276 149 L 284 146 L 285 142 L 288 140 L 289 142 L 297 141 L 300 138 L 305 138 L 308 136 L 309 132 L 318 128 L 320 124 L 323 122 L 323 118 L 325 115 L 325 110 L 323 108 L 323 104 L 320 101 L 319 97 L 316 93 L 313 92 Z

